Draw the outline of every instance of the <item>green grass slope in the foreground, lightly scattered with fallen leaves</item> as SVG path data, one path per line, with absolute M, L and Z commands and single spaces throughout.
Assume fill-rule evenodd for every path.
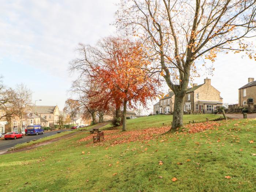
M 1 155 L 0 187 L 3 191 L 255 191 L 256 141 L 249 141 L 256 138 L 256 120 L 222 124 L 218 130 L 166 134 L 159 138 L 165 142 L 108 148 L 77 143 L 88 134 L 81 132 L 49 146 Z M 173 177 L 178 180 L 172 182 Z

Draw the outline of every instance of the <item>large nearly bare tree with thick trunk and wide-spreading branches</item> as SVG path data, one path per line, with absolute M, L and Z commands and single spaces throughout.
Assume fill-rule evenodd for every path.
M 256 36 L 255 15 L 255 0 L 122 1 L 118 29 L 141 39 L 154 72 L 175 94 L 173 129 L 182 126 L 184 96 L 200 59 L 214 62 L 217 53 L 229 51 L 256 59 L 246 41 Z

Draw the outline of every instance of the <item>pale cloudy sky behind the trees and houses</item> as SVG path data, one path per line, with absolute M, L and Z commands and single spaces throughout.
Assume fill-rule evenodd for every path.
M 0 75 L 6 86 L 24 83 L 33 91 L 37 105 L 58 105 L 63 109 L 70 97 L 75 74 L 68 72 L 78 43 L 94 45 L 99 38 L 116 33 L 114 12 L 118 0 L 16 0 L 1 1 Z M 256 63 L 241 54 L 219 54 L 208 77 L 221 92 L 223 102 L 238 103 L 238 89 L 256 79 Z M 164 85 L 166 91 L 168 87 Z M 153 109 L 149 102 L 148 112 Z

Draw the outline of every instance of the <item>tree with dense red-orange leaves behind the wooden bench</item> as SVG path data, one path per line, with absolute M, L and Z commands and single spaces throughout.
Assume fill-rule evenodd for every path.
M 127 107 L 134 108 L 138 102 L 146 106 L 147 100 L 159 93 L 161 83 L 157 76 L 149 73 L 151 63 L 144 57 L 141 42 L 108 37 L 98 45 L 102 63 L 92 68 L 92 77 L 101 92 L 108 90 L 109 101 L 123 106 L 123 131 L 126 131 Z

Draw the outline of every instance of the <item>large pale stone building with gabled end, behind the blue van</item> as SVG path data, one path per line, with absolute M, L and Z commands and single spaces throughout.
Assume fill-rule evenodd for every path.
M 36 108 L 36 109 L 35 109 Z M 44 118 L 49 122 L 50 127 L 54 127 L 54 125 L 57 125 L 59 121 L 59 108 L 58 106 L 29 106 L 28 110 L 31 113 L 35 113 L 36 110 L 36 115 L 39 117 Z

